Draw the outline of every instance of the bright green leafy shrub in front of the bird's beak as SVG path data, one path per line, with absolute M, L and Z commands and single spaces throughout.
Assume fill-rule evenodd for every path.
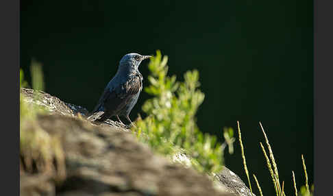
M 196 124 L 195 113 L 204 101 L 204 93 L 198 87 L 199 72 L 187 71 L 184 82 L 176 82 L 175 75 L 169 77 L 167 56 L 160 51 L 149 62 L 150 85 L 145 92 L 153 95 L 145 101 L 145 119 L 140 117 L 133 128 L 140 141 L 153 150 L 172 156 L 177 152 L 188 153 L 195 169 L 201 172 L 217 172 L 223 167 L 223 149 L 226 145 L 233 151 L 231 128 L 224 130 L 226 142 L 221 145 L 216 136 L 203 134 Z

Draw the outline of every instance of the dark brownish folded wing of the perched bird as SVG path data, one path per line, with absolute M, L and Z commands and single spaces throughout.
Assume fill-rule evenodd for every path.
M 118 114 L 140 90 L 142 90 L 140 76 L 132 75 L 126 82 L 113 88 L 106 88 L 94 112 L 103 110 L 108 115 Z

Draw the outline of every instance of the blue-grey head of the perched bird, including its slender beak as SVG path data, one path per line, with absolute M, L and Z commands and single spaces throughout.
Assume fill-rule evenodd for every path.
M 140 63 L 148 58 L 151 58 L 151 56 L 142 56 L 138 53 L 127 53 L 123 56 L 123 58 L 121 58 L 121 61 L 119 62 L 119 69 L 127 71 L 138 70 Z

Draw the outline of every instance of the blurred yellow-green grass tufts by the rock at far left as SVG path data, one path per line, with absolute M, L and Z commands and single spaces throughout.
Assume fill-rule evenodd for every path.
M 32 61 L 32 87 L 43 90 L 42 67 Z M 20 88 L 28 86 L 20 70 Z M 23 101 L 20 95 L 20 171 L 26 173 L 56 173 L 56 182 L 65 177 L 64 153 L 60 139 L 51 136 L 37 123 L 38 114 L 45 109 Z

